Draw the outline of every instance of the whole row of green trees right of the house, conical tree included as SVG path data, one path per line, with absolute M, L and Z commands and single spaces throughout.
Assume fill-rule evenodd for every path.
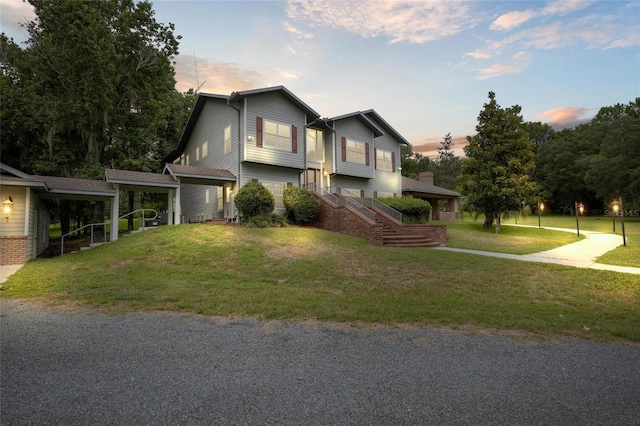
M 489 92 L 468 136 L 466 158 L 453 155 L 450 135 L 430 160 L 411 148 L 402 151 L 402 174 L 416 179 L 432 171 L 436 185 L 463 196 L 463 205 L 485 215 L 485 227 L 506 214 L 536 209 L 574 212 L 609 210 L 622 198 L 626 210 L 640 208 L 640 98 L 602 107 L 586 124 L 555 131 L 548 124 L 524 122 L 518 105 L 502 108 Z

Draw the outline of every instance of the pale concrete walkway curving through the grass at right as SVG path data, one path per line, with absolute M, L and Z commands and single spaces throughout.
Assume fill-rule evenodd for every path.
M 528 225 L 503 226 L 525 226 L 529 228 L 537 228 L 537 226 Z M 575 229 L 550 228 L 544 226 L 543 228 L 553 231 L 576 232 Z M 580 234 L 585 236 L 583 240 L 552 250 L 541 251 L 533 254 L 507 254 L 483 250 L 458 249 L 453 247 L 436 247 L 435 249 L 455 251 L 458 253 L 477 254 L 480 256 L 500 257 L 503 259 L 521 260 L 526 262 L 556 263 L 559 265 L 575 266 L 577 268 L 600 269 L 603 271 L 624 272 L 640 275 L 640 268 L 596 263 L 596 259 L 598 257 L 622 245 L 621 236 L 593 231 L 580 231 Z

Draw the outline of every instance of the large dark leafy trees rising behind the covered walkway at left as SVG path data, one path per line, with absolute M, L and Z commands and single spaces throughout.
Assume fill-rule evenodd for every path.
M 30 3 L 37 19 L 24 25 L 24 46 L 0 34 L 2 161 L 87 179 L 161 171 L 195 98 L 175 90 L 173 24 L 158 23 L 146 0 Z M 73 217 L 103 215 L 102 203 L 62 203 L 63 232 Z

